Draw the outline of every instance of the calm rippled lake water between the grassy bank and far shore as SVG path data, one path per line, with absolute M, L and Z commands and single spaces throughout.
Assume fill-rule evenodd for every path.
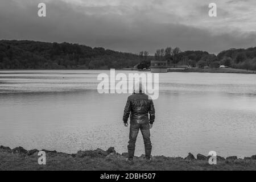
M 0 71 L 0 144 L 126 152 L 129 129 L 122 114 L 128 94 L 98 94 L 101 72 L 109 73 Z M 256 75 L 160 73 L 159 79 L 152 155 L 256 154 Z M 139 134 L 135 155 L 143 151 Z

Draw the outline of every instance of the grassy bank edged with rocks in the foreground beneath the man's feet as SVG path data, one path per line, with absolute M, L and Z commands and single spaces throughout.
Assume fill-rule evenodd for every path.
M 127 153 L 118 154 L 113 147 L 108 151 L 97 149 L 76 154 L 46 151 L 46 165 L 39 165 L 38 150 L 1 146 L 0 170 L 256 170 L 256 156 L 245 159 L 218 156 L 216 165 L 210 165 L 203 155 L 197 155 L 197 159 L 192 154 L 184 159 L 154 156 L 151 162 L 141 156 L 135 157 L 132 165 L 125 162 L 126 156 Z

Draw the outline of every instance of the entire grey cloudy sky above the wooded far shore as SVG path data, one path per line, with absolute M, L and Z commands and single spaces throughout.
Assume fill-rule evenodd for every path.
M 38 17 L 38 3 L 46 17 Z M 209 17 L 209 3 L 217 17 Z M 0 39 L 70 42 L 154 54 L 256 46 L 255 0 L 1 0 Z

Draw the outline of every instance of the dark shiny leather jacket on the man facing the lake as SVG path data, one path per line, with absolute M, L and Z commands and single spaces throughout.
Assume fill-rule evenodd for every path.
M 148 114 L 150 115 L 148 119 Z M 123 112 L 123 122 L 127 123 L 130 115 L 130 124 L 138 125 L 155 121 L 155 107 L 154 103 L 144 93 L 136 93 L 128 97 L 125 110 Z

